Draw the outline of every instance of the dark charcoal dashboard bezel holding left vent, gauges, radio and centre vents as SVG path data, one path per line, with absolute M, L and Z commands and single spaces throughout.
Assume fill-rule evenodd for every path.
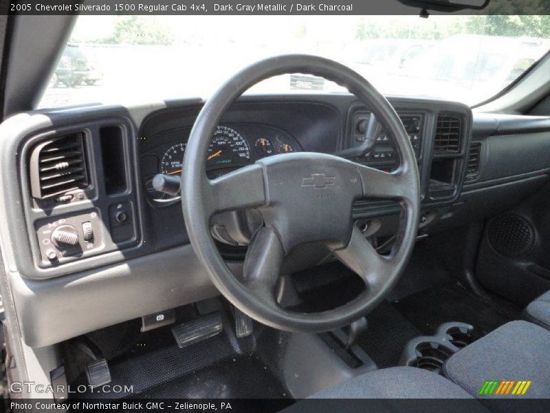
M 391 103 L 415 152 L 422 206 L 428 209 L 422 218 L 426 225 L 436 218 L 434 211 L 459 196 L 472 112 L 459 103 L 434 100 L 393 98 Z M 154 178 L 161 174 L 179 187 L 177 176 L 186 173 L 182 160 L 200 108 L 179 105 L 151 112 L 140 123 L 137 140 L 133 123 L 124 116 L 88 120 L 27 140 L 21 162 L 23 188 L 29 195 L 23 198 L 25 220 L 34 234 L 30 273 L 56 277 L 85 268 L 87 262 L 108 263 L 116 253 L 142 256 L 188 244 L 179 193 L 157 191 Z M 364 144 L 367 131 L 373 145 L 356 156 L 353 153 Z M 351 96 L 250 97 L 234 104 L 215 129 L 204 153 L 206 174 L 216 178 L 261 158 L 295 151 L 338 153 L 384 171 L 392 171 L 400 162 L 395 138 Z M 373 229 L 377 228 L 373 217 L 398 217 L 399 211 L 393 201 L 361 199 L 353 206 L 353 218 L 359 226 Z M 221 245 L 222 253 L 242 260 L 245 247 L 231 246 L 245 245 L 247 237 L 242 231 L 236 237 L 221 236 L 228 234 L 227 225 L 234 220 L 220 221 L 213 220 L 212 226 L 214 237 L 229 245 Z M 392 226 L 378 226 L 375 233 L 365 235 L 391 235 Z

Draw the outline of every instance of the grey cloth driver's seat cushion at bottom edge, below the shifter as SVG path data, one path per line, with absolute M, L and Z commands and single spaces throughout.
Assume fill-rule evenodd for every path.
M 414 367 L 375 370 L 318 394 L 314 399 L 472 399 L 445 377 Z

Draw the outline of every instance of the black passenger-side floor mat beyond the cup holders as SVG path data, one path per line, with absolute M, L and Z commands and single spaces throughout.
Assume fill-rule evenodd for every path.
M 447 321 L 461 321 L 472 324 L 474 338 L 479 338 L 519 317 L 519 311 L 485 301 L 456 284 L 426 288 L 392 305 L 427 335 Z

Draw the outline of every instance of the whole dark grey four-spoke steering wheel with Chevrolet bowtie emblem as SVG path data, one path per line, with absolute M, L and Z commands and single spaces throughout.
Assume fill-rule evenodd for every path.
M 401 160 L 386 173 L 324 153 L 287 153 L 256 161 L 214 180 L 206 176 L 210 138 L 230 105 L 266 78 L 288 73 L 327 78 L 347 87 L 395 137 Z M 420 190 L 415 154 L 399 116 L 375 87 L 348 67 L 307 55 L 277 56 L 230 78 L 203 106 L 193 126 L 181 174 L 181 205 L 190 242 L 212 282 L 236 308 L 267 326 L 323 332 L 351 324 L 380 304 L 404 270 L 415 244 Z M 401 204 L 395 246 L 378 254 L 351 220 L 353 201 L 383 198 Z M 210 234 L 210 218 L 236 209 L 257 209 L 263 225 L 252 235 L 243 279 L 233 275 Z M 322 313 L 282 308 L 276 286 L 283 258 L 311 242 L 329 247 L 365 284 L 355 299 Z

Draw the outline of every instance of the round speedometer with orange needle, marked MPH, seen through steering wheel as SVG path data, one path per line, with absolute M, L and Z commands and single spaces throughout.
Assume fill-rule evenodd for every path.
M 243 165 L 250 162 L 250 147 L 238 131 L 219 126 L 208 146 L 207 167 Z

